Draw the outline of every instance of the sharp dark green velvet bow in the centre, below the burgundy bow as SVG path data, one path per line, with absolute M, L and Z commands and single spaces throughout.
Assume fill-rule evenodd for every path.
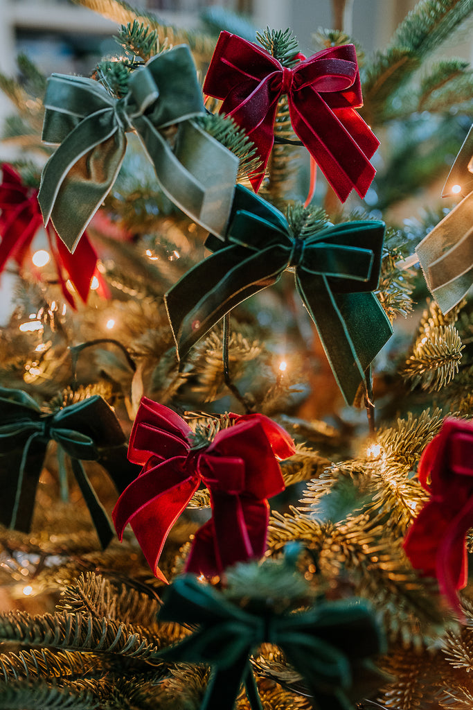
M 351 403 L 392 333 L 369 293 L 379 280 L 384 223 L 347 222 L 295 238 L 278 209 L 237 185 L 228 224 L 227 240 L 209 236 L 206 246 L 214 253 L 165 296 L 178 357 L 238 303 L 291 268 L 338 386 Z

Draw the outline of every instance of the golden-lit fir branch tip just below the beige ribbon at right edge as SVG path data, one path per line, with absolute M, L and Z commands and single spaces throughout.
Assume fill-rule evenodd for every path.
M 430 329 L 428 335 L 416 341 L 403 376 L 411 380 L 411 388 L 421 385 L 424 391 L 438 392 L 458 373 L 463 349 L 455 326 Z

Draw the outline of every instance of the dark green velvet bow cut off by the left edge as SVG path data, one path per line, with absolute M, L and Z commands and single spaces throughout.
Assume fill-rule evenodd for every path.
M 51 439 L 69 455 L 101 545 L 106 547 L 113 527 L 80 459 L 104 466 L 120 493 L 136 478 L 139 468 L 126 457 L 126 438 L 116 415 L 97 395 L 45 414 L 26 392 L 0 387 L 0 522 L 23 532 L 30 529 Z

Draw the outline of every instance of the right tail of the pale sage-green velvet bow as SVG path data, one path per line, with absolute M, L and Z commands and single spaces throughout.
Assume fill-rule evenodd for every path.
M 213 234 L 223 234 L 238 158 L 191 121 L 179 124 L 175 153 L 145 116 L 135 126 L 169 200 Z

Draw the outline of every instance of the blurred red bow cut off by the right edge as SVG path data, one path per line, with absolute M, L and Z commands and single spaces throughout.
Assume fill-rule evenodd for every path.
M 465 536 L 473 527 L 473 422 L 447 419 L 422 454 L 418 477 L 430 493 L 404 540 L 413 567 L 437 577 L 460 612 L 456 589 L 467 584 Z

